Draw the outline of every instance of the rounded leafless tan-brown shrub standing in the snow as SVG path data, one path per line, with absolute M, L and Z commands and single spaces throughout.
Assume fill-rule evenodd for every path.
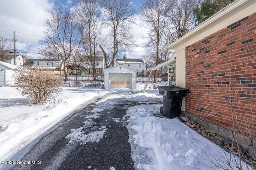
M 15 70 L 15 86 L 22 96 L 26 96 L 33 104 L 46 103 L 61 92 L 61 75 L 43 68 L 21 67 Z

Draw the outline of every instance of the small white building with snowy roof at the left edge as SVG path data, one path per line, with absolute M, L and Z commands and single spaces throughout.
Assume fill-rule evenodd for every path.
M 0 61 L 0 86 L 14 86 L 14 69 L 19 66 Z

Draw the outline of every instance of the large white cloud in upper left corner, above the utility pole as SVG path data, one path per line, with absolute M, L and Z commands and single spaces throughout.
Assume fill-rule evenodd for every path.
M 1 0 L 1 36 L 13 39 L 13 32 L 11 31 L 16 30 L 16 49 L 24 51 L 29 49 L 37 52 L 36 47 L 31 48 L 31 46 L 32 44 L 39 44 L 38 41 L 42 40 L 44 36 L 43 21 L 50 18 L 50 11 L 53 6 L 53 2 L 46 0 Z

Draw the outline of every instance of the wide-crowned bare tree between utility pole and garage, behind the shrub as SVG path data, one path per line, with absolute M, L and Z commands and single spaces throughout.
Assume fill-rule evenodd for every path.
M 51 18 L 44 21 L 44 41 L 46 46 L 40 51 L 52 59 L 62 60 L 65 81 L 68 80 L 66 64 L 72 55 L 73 46 L 78 43 L 78 31 L 75 15 L 60 6 L 51 13 Z

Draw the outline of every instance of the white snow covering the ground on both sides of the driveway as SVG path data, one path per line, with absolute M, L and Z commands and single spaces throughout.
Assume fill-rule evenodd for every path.
M 125 100 L 150 103 L 129 107 L 126 112 L 130 117 L 127 129 L 132 159 L 137 170 L 218 169 L 212 167 L 208 157 L 223 156 L 222 149 L 184 125 L 178 118 L 154 117 L 153 114 L 158 113 L 162 105 L 157 104 L 162 96 L 158 90 L 152 89 L 152 84 L 146 93 L 140 93 L 143 88 L 144 84 L 137 84 L 137 90 L 64 87 L 56 100 L 33 105 L 28 104 L 15 88 L 0 87 L 0 160 L 10 160 L 16 152 L 31 145 L 34 139 L 46 134 L 63 119 L 96 99 L 102 98 L 102 102 L 126 96 Z M 108 103 L 106 107 L 103 105 L 95 108 L 93 113 L 112 106 L 114 103 Z M 75 139 L 77 136 L 68 137 Z M 98 140 L 100 138 L 94 141 Z M 110 169 L 114 170 L 115 167 Z

